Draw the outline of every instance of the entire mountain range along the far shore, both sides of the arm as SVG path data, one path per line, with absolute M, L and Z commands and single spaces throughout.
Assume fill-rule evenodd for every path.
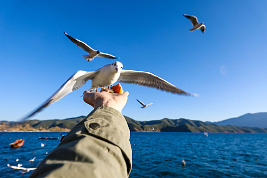
M 240 117 L 229 118 L 228 120 L 215 123 L 193 121 L 185 118 L 175 120 L 163 118 L 162 120 L 154 121 L 136 121 L 128 116 L 124 117 L 131 132 L 267 133 L 267 112 L 255 114 L 248 113 Z M 22 128 L 21 130 L 23 130 L 23 128 L 32 130 L 51 130 L 51 128 L 72 129 L 76 124 L 83 120 L 83 118 L 85 118 L 85 116 L 81 115 L 78 117 L 66 118 L 64 120 L 29 120 L 23 123 L 10 122 L 10 125 Z

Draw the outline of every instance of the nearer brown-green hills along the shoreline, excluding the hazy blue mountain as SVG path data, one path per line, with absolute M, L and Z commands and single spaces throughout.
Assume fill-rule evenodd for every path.
M 245 114 L 246 115 L 246 114 Z M 136 121 L 128 116 L 124 116 L 131 132 L 226 132 L 226 133 L 267 133 L 267 129 L 258 127 L 238 127 L 238 126 L 220 126 L 214 123 L 192 121 L 185 118 L 171 120 L 163 118 L 155 121 Z M 30 120 L 23 123 L 12 123 L 12 126 L 39 130 L 55 130 L 55 129 L 72 129 L 76 124 L 85 118 L 84 115 L 64 120 Z M 7 123 L 3 124 L 7 126 Z M 0 126 L 1 126 L 0 125 Z M 3 127 L 4 128 L 4 127 Z M 0 127 L 1 131 L 1 127 Z

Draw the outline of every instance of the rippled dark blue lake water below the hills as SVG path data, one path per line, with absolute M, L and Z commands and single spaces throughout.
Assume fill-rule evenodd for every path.
M 27 177 L 6 165 L 36 167 L 59 140 L 59 133 L 0 133 L 0 177 Z M 18 149 L 9 143 L 25 139 Z M 267 134 L 131 133 L 134 177 L 267 177 Z M 41 147 L 41 143 L 45 146 Z M 35 162 L 29 159 L 37 157 Z M 9 160 L 6 160 L 9 158 Z M 16 159 L 19 159 L 16 162 Z M 182 166 L 181 160 L 186 161 Z

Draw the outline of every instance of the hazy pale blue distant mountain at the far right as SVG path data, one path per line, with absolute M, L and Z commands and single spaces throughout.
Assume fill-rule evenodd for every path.
M 220 126 L 241 126 L 241 127 L 261 127 L 267 128 L 267 112 L 247 113 L 239 117 L 229 118 L 220 122 L 215 122 Z

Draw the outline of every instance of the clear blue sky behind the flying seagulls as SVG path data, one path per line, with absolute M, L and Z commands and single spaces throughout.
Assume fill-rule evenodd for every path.
M 64 31 L 121 57 L 124 69 L 149 71 L 200 94 L 123 84 L 130 93 L 123 114 L 135 120 L 220 121 L 267 111 L 266 1 L 67 2 L 0 2 L 0 120 L 33 111 L 77 70 L 114 62 L 100 57 L 86 62 L 86 52 Z M 197 16 L 206 32 L 190 33 L 183 14 Z M 91 81 L 33 118 L 87 115 L 92 107 L 80 95 L 90 86 Z M 141 109 L 135 99 L 155 104 Z

